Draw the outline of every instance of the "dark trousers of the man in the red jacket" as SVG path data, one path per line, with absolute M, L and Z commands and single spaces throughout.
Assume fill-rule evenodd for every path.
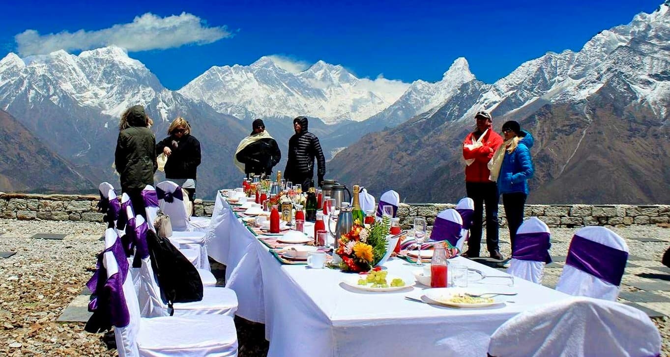
M 486 204 L 486 248 L 498 251 L 498 186 L 495 182 L 466 182 L 468 197 L 474 201 L 472 227 L 468 238 L 468 256 L 478 257 L 482 242 L 482 213 Z

